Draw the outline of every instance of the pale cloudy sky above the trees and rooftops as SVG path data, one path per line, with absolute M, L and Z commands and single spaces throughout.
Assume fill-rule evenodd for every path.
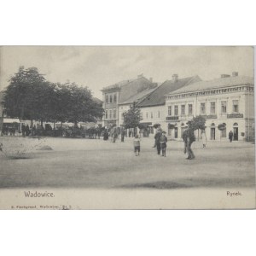
M 203 80 L 220 74 L 253 77 L 252 47 L 197 46 L 2 46 L 0 90 L 20 66 L 38 67 L 50 82 L 67 80 L 87 86 L 102 99 L 102 87 L 142 74 L 163 83 L 177 73 L 179 78 L 199 75 Z

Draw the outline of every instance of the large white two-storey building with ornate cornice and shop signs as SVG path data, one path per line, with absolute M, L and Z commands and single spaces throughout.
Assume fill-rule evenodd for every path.
M 168 135 L 181 139 L 188 120 L 201 115 L 209 140 L 227 140 L 230 131 L 235 141 L 254 137 L 253 91 L 253 78 L 237 72 L 172 91 L 166 96 Z

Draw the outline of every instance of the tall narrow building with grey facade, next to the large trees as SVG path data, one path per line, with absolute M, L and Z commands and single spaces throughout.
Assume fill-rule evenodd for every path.
M 141 74 L 137 76 L 137 79 L 125 80 L 104 87 L 102 89 L 102 107 L 105 110 L 105 115 L 102 118 L 102 125 L 122 125 L 123 120 L 121 113 L 123 113 L 126 108 L 129 108 L 129 102 L 131 102 L 129 99 L 132 96 L 142 93 L 143 90 L 150 90 L 156 86 L 157 84 L 153 83 L 152 79 L 146 79 L 143 77 L 143 74 Z M 123 103 L 125 103 L 125 109 L 122 107 Z

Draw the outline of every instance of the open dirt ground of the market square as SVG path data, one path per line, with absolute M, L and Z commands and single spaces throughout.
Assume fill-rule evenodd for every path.
M 201 189 L 253 188 L 254 145 L 245 142 L 193 144 L 186 160 L 182 142 L 168 142 L 166 157 L 153 138 L 142 138 L 135 156 L 125 143 L 83 138 L 0 137 L 0 188 Z M 46 147 L 47 146 L 47 147 Z M 38 149 L 52 150 L 38 150 Z M 19 153 L 17 152 L 19 151 Z

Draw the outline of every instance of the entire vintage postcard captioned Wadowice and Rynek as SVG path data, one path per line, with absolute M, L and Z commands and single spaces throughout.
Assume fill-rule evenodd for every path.
M 255 208 L 252 46 L 1 46 L 0 209 Z

